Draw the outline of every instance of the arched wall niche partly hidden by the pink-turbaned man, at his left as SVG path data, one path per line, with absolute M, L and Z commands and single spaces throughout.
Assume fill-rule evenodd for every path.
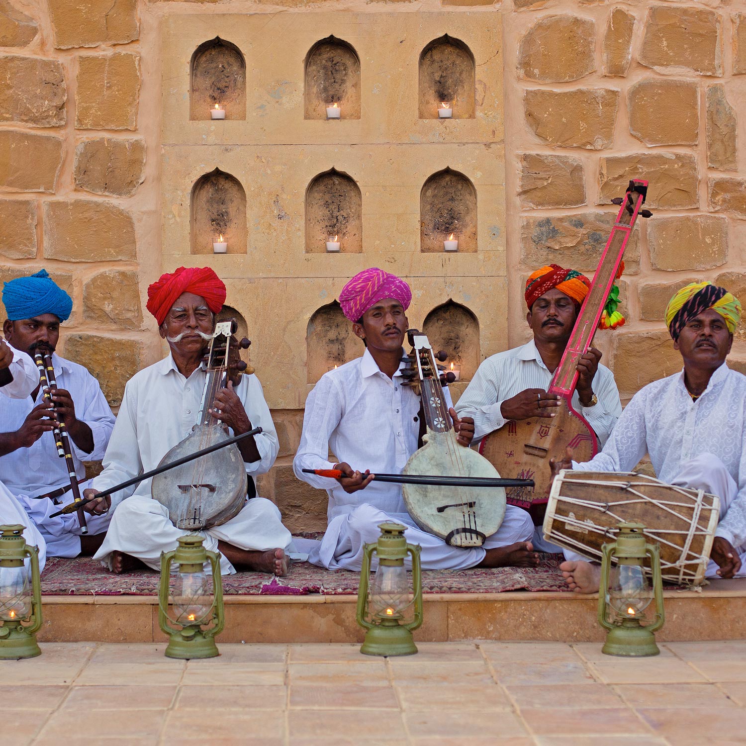
M 317 309 L 306 330 L 308 383 L 316 383 L 330 368 L 363 354 L 363 342 L 354 335 L 352 323 L 337 301 Z

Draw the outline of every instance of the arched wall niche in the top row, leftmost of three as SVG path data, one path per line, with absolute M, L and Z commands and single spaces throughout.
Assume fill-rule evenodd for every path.
M 246 61 L 235 44 L 220 37 L 200 44 L 190 71 L 189 119 L 212 119 L 215 104 L 225 119 L 246 119 Z

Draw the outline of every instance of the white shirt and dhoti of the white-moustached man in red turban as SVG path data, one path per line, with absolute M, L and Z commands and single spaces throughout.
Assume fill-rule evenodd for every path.
M 93 479 L 92 486 L 108 489 L 158 466 L 198 421 L 206 379 L 202 368 L 185 378 L 170 354 L 135 374 L 125 386 L 122 407 L 104 456 L 104 471 Z M 234 391 L 251 425 L 263 428 L 255 436 L 260 460 L 245 464 L 246 473 L 253 478 L 269 471 L 275 463 L 280 448 L 278 436 L 257 377 L 242 376 Z M 151 480 L 117 492 L 112 498 L 111 524 L 95 558 L 110 568 L 111 553 L 121 551 L 159 568 L 161 551 L 175 548 L 178 536 L 188 532 L 176 528 L 169 521 L 166 508 L 151 498 Z M 218 540 L 259 551 L 289 550 L 292 541 L 277 507 L 263 498 L 251 499 L 231 521 L 201 533 L 205 548 L 212 551 L 216 551 Z M 225 557 L 221 559 L 221 569 L 223 574 L 235 572 Z

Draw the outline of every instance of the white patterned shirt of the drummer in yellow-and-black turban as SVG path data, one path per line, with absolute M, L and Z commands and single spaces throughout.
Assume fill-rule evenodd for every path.
M 580 471 L 632 471 L 647 451 L 659 480 L 672 482 L 683 463 L 715 454 L 738 485 L 738 495 L 715 536 L 734 547 L 746 543 L 746 376 L 723 363 L 697 401 L 684 372 L 648 383 L 633 396 L 604 450 Z

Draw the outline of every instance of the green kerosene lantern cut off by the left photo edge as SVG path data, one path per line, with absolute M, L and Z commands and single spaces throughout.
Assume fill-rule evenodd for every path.
M 37 645 L 42 627 L 39 551 L 26 544 L 23 530 L 20 524 L 0 526 L 0 659 L 42 653 Z

